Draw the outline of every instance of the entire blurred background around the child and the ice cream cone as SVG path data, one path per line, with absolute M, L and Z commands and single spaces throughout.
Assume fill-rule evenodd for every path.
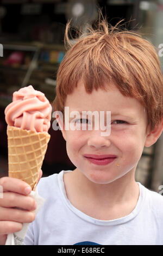
M 8 175 L 7 124 L 4 109 L 12 93 L 30 84 L 55 97 L 56 74 L 64 57 L 67 20 L 73 27 L 97 18 L 102 8 L 108 22 L 120 19 L 128 29 L 139 29 L 154 44 L 163 70 L 163 0 L 0 0 L 0 178 Z M 53 121 L 53 120 L 52 120 Z M 51 141 L 43 161 L 43 176 L 75 167 L 66 154 L 61 131 L 49 130 Z M 135 178 L 151 190 L 163 188 L 163 139 L 143 150 Z

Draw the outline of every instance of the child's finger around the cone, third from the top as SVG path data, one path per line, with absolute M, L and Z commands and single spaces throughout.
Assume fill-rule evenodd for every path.
M 32 211 L 0 207 L 0 222 L 14 221 L 20 223 L 30 223 L 33 222 L 34 220 L 35 213 Z

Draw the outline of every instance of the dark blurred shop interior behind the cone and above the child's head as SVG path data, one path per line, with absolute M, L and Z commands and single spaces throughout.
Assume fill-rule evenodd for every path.
M 5 164 L 8 150 L 4 109 L 11 102 L 12 93 L 29 84 L 45 93 L 50 102 L 54 100 L 56 74 L 65 54 L 67 20 L 73 19 L 74 27 L 93 21 L 97 17 L 97 5 L 103 8 L 104 15 L 112 24 L 120 18 L 129 20 L 135 15 L 135 1 L 1 0 L 0 3 L 0 43 L 3 45 L 3 57 L 0 57 L 2 176 L 4 169 L 7 174 L 8 168 Z M 61 131 L 54 131 L 51 126 L 49 133 L 51 140 L 42 166 L 43 174 L 74 169 Z

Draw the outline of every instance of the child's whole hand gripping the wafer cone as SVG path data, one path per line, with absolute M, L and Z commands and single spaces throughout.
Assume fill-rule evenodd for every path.
M 39 180 L 41 176 L 42 170 Z M 3 177 L 0 185 L 3 187 L 3 198 L 0 198 L 0 245 L 5 245 L 8 234 L 20 231 L 23 222 L 34 221 L 36 204 L 34 198 L 28 196 L 32 189 L 26 182 Z

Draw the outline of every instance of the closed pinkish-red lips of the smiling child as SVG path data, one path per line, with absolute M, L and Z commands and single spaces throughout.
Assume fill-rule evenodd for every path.
M 91 163 L 97 165 L 106 165 L 113 162 L 117 156 L 116 155 L 92 155 L 86 154 L 84 157 Z

